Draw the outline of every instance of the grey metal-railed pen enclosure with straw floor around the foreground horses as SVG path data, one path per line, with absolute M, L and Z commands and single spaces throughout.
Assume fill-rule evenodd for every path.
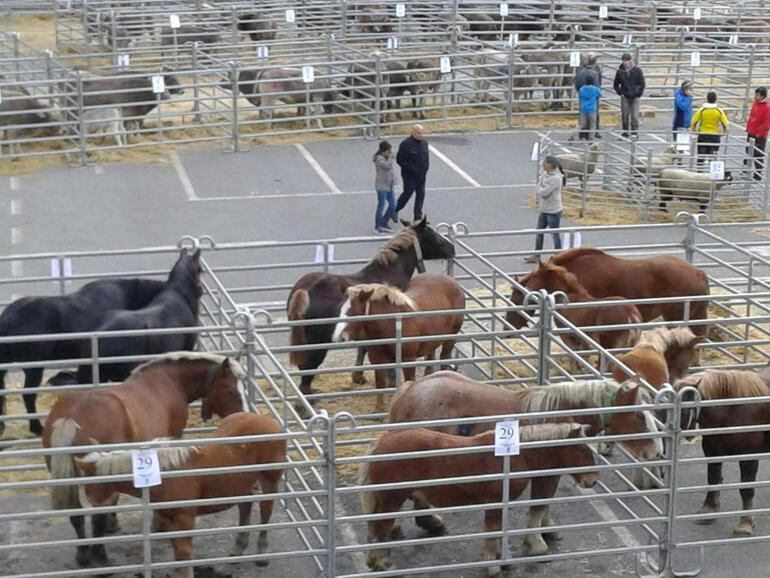
M 767 223 L 761 223 L 766 226 Z M 457 279 L 464 288 L 467 306 L 463 311 L 465 323 L 457 337 L 452 363 L 461 373 L 481 382 L 517 390 L 538 383 L 574 381 L 595 378 L 615 363 L 619 351 L 607 351 L 592 342 L 586 328 L 573 326 L 565 317 L 573 307 L 561 301 L 558 295 L 530 294 L 524 305 L 510 302 L 511 286 L 516 275 L 525 273 L 519 258 L 509 250 L 511 239 L 532 235 L 533 231 L 469 231 L 462 223 L 441 224 L 437 230 L 456 248 L 456 257 L 443 269 Z M 686 319 L 685 325 L 693 328 L 707 323 L 709 339 L 700 346 L 700 368 L 760 368 L 770 358 L 768 339 L 768 266 L 766 242 L 751 240 L 739 224 L 705 224 L 702 217 L 683 215 L 677 223 L 652 224 L 637 227 L 576 227 L 564 229 L 563 234 L 575 237 L 580 233 L 584 244 L 601 247 L 622 258 L 634 258 L 656 254 L 671 254 L 684 258 L 701 268 L 711 285 L 709 319 L 707 322 Z M 650 241 L 631 245 L 630 233 L 645 232 Z M 386 431 L 404 429 L 410 425 L 389 424 L 386 416 L 375 412 L 371 386 L 352 385 L 348 373 L 355 369 L 350 343 L 329 344 L 332 350 L 327 362 L 317 370 L 316 392 L 306 396 L 297 386 L 303 372 L 289 367 L 288 354 L 297 347 L 288 344 L 288 332 L 298 324 L 312 321 L 286 321 L 285 299 L 293 282 L 304 272 L 326 270 L 350 271 L 366 263 L 374 254 L 381 238 L 318 239 L 293 243 L 223 243 L 211 238 L 184 239 L 180 246 L 203 249 L 203 300 L 201 309 L 200 348 L 228 354 L 240 352 L 241 362 L 247 369 L 248 394 L 252 411 L 259 411 L 278 419 L 289 442 L 284 486 L 275 497 L 280 506 L 274 521 L 263 526 L 251 524 L 249 530 L 267 528 L 271 533 L 270 552 L 257 555 L 246 553 L 235 558 L 226 557 L 228 543 L 238 527 L 226 516 L 202 518 L 198 528 L 173 535 L 195 536 L 195 564 L 201 575 L 213 575 L 212 566 L 226 564 L 226 572 L 233 576 L 283 576 L 289 573 L 326 576 L 368 576 L 365 565 L 367 552 L 366 523 L 383 518 L 382 514 L 362 515 L 358 497 L 362 489 L 356 481 L 360 465 L 381 457 L 365 457 L 371 441 Z M 56 254 L 15 255 L 3 261 L 13 267 L 13 262 L 23 262 L 26 277 L 6 279 L 2 282 L 3 301 L 25 294 L 58 294 L 70 291 L 81 283 L 112 276 L 152 276 L 165 274 L 169 262 L 179 247 L 157 247 L 120 252 L 88 252 Z M 665 299 L 648 300 L 666 301 Z M 685 300 L 687 303 L 687 300 Z M 644 301 L 639 301 L 640 304 Z M 582 304 L 581 304 L 582 305 Z M 536 315 L 529 328 L 514 330 L 505 320 L 506 313 L 520 311 Z M 685 311 L 689 306 L 685 305 Z M 396 315 L 396 324 L 405 317 L 425 315 L 407 313 Z M 552 321 L 556 322 L 552 326 Z M 663 325 L 653 321 L 644 328 Z M 172 331 L 169 329 L 168 331 Z M 586 344 L 576 351 L 563 341 L 569 333 Z M 36 336 L 30 339 L 61 339 L 78 336 Z M 92 343 L 103 335 L 88 334 Z M 9 338 L 2 338 L 7 342 Z M 396 351 L 405 338 L 396 338 Z M 327 346 L 325 346 L 327 347 Z M 398 354 L 397 354 L 398 355 Z M 396 361 L 396 368 L 400 365 Z M 98 365 L 98 358 L 79 360 Z M 572 368 L 578 364 L 579 369 Z M 24 364 L 6 364 L 9 370 Z M 43 363 L 46 368 L 58 370 L 76 365 L 73 360 Z M 413 365 L 425 366 L 425 362 Z M 387 366 L 386 366 L 387 367 Z M 366 365 L 367 372 L 373 369 Z M 693 368 L 695 370 L 696 368 Z M 396 372 L 397 375 L 400 372 Z M 98 372 L 96 373 L 98 375 Z M 66 386 L 40 389 L 42 404 L 49 407 L 57 391 L 90 388 L 93 385 Z M 390 394 L 393 390 L 385 390 Z M 0 552 L 7 560 L 4 572 L 13 576 L 80 576 L 104 573 L 101 568 L 76 568 L 73 534 L 66 516 L 70 512 L 52 511 L 43 492 L 52 484 L 66 483 L 48 479 L 42 457 L 52 450 L 43 450 L 35 438 L 28 437 L 25 416 L 14 403 L 18 389 L 6 389 L 4 394 L 12 408 L 6 416 L 4 439 L 0 442 L 0 492 L 3 521 L 2 532 L 7 537 Z M 740 400 L 741 403 L 757 403 L 756 399 Z M 735 403 L 731 400 L 729 403 Z M 707 402 L 719 405 L 722 402 Z M 695 446 L 686 443 L 692 435 L 710 435 L 713 431 L 694 431 L 679 419 L 683 408 L 700 406 L 704 402 L 685 401 L 682 395 L 665 389 L 659 393 L 650 391 L 649 401 L 635 409 L 656 410 L 658 429 L 655 433 L 602 436 L 590 440 L 629 441 L 649 439 L 650 436 L 664 441 L 662 456 L 654 460 L 640 461 L 616 444 L 614 455 L 597 454 L 597 465 L 590 469 L 600 472 L 600 482 L 593 490 L 573 490 L 563 483 L 554 498 L 548 500 L 519 499 L 511 502 L 510 512 L 504 516 L 500 532 L 482 531 L 478 511 L 494 504 L 453 506 L 431 511 L 420 510 L 420 515 L 442 514 L 450 533 L 440 537 L 425 537 L 416 532 L 402 518 L 414 515 L 405 511 L 402 519 L 406 539 L 395 541 L 393 559 L 397 569 L 379 572 L 378 576 L 410 575 L 457 575 L 472 572 L 473 568 L 489 568 L 497 564 L 484 561 L 479 555 L 483 539 L 495 535 L 503 538 L 501 552 L 503 565 L 513 565 L 510 575 L 529 575 L 533 562 L 549 562 L 539 565 L 540 575 L 559 575 L 573 572 L 580 567 L 588 575 L 612 575 L 639 573 L 647 575 L 670 574 L 700 566 L 710 574 L 719 575 L 729 563 L 725 551 L 729 528 L 725 518 L 739 515 L 735 489 L 745 485 L 727 477 L 721 484 L 725 490 L 724 511 L 716 517 L 713 527 L 693 526 L 692 522 L 704 518 L 696 515 L 695 501 L 705 487 L 705 463 Z M 617 413 L 622 408 L 601 408 L 601 413 Z M 596 409 L 572 410 L 563 415 L 597 413 Z M 544 414 L 530 414 L 539 417 Z M 511 416 L 490 416 L 490 421 Z M 517 416 L 521 417 L 521 416 Z M 428 422 L 424 425 L 447 423 L 477 423 L 480 418 L 462 418 L 450 422 Z M 767 429 L 766 425 L 753 430 Z M 741 431 L 744 431 L 742 428 Z M 221 443 L 221 439 L 209 437 L 211 428 L 202 423 L 197 412 L 189 423 L 183 440 L 141 444 L 149 446 L 202 446 Z M 719 433 L 723 433 L 719 430 Z M 238 442 L 248 441 L 239 439 Z M 535 442 L 524 447 L 538 447 L 554 442 Z M 125 446 L 127 448 L 136 447 Z M 100 446 L 89 450 L 107 449 Z M 115 449 L 115 448 L 109 448 Z M 68 449 L 56 452 L 73 451 Z M 492 451 L 478 448 L 474 451 Z M 446 453 L 446 452 L 444 452 Z M 429 454 L 426 454 L 429 455 Z M 733 461 L 730 459 L 728 461 Z M 654 468 L 663 469 L 658 475 Z M 248 468 L 245 468 L 248 469 Z M 253 468 L 252 468 L 253 469 Z M 578 468 L 572 471 L 585 471 Z M 651 489 L 640 489 L 634 481 L 634 473 L 645 470 L 647 476 L 656 476 L 657 483 Z M 568 472 L 570 469 L 560 470 Z M 207 472 L 197 472 L 205 475 Z M 212 472 L 208 472 L 209 474 Z M 164 472 L 164 476 L 188 475 L 187 472 Z M 528 476 L 525 472 L 504 472 L 479 479 L 499 479 L 509 476 Z M 113 479 L 126 479 L 118 476 Z M 768 539 L 763 507 L 767 498 L 767 481 L 762 476 L 756 484 L 759 490 L 754 512 L 759 515 L 759 528 L 753 537 L 729 540 L 730 548 L 741 545 L 740 552 L 750 553 L 763 547 Z M 83 481 L 82 479 L 80 481 Z M 467 482 L 467 479 L 444 480 L 444 483 Z M 432 483 L 432 482 L 431 482 Z M 410 485 L 411 484 L 411 485 Z M 422 482 L 421 482 L 422 484 Z M 395 487 L 415 487 L 414 482 L 402 482 Z M 159 504 L 144 501 L 121 500 L 120 505 L 96 511 L 120 512 L 123 530 L 103 539 L 108 544 L 115 575 L 150 576 L 152 571 L 167 571 L 178 567 L 170 561 L 166 545 L 169 534 L 155 532 L 151 527 L 151 511 Z M 260 501 L 264 496 L 247 499 Z M 234 503 L 243 498 L 208 500 L 206 503 L 228 501 Z M 507 501 L 504 496 L 503 501 Z M 521 508 L 548 503 L 551 505 L 555 524 L 549 531 L 558 531 L 561 542 L 553 544 L 547 554 L 525 557 L 509 550 L 520 537 L 531 533 L 527 529 L 526 516 Z M 173 505 L 179 505 L 174 503 Z M 499 507 L 499 503 L 497 506 Z M 508 512 L 508 507 L 505 508 Z M 94 543 L 93 539 L 81 544 Z M 378 546 L 379 547 L 379 546 Z M 745 548 L 746 550 L 744 550 Z M 707 552 L 704 550 L 707 549 Z M 249 551 L 251 552 L 251 551 Z M 34 553 L 34 554 L 33 554 Z M 747 560 L 751 556 L 746 557 Z M 254 570 L 253 561 L 270 561 L 268 568 Z M 761 560 L 761 556 L 757 557 Z M 747 564 L 750 564 L 748 562 Z

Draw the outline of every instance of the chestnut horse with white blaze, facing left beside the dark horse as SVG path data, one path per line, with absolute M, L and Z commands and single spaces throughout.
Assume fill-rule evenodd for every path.
M 464 309 L 465 295 L 462 287 L 448 275 L 422 273 L 412 278 L 404 292 L 395 287 L 379 283 L 353 285 L 345 292 L 347 300 L 340 309 L 341 320 L 337 322 L 332 341 L 368 341 L 372 339 L 393 339 L 396 336 L 395 319 L 379 321 L 354 321 L 361 315 L 382 315 L 402 311 L 442 311 Z M 432 361 L 436 350 L 441 348 L 441 360 L 452 358 L 455 340 L 447 335 L 457 335 L 463 326 L 464 315 L 442 315 L 440 317 L 407 317 L 403 320 L 401 333 L 404 337 L 436 335 L 435 341 L 412 341 L 401 345 L 364 346 L 369 361 L 374 364 L 395 363 L 396 348 L 401 347 L 401 360 L 409 363 L 418 357 Z M 443 366 L 442 366 L 443 367 Z M 404 379 L 414 380 L 416 367 L 404 367 Z M 431 367 L 425 368 L 426 374 Z M 395 385 L 395 369 L 376 369 L 374 372 L 377 389 Z M 383 396 L 377 396 L 376 411 L 385 409 Z

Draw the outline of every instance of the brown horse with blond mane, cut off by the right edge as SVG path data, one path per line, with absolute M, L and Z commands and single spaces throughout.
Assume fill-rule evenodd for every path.
M 689 375 L 674 384 L 679 391 L 684 387 L 694 387 L 701 399 L 736 399 L 742 397 L 770 396 L 770 375 L 753 371 L 726 371 L 710 369 Z M 692 401 L 692 397 L 683 396 L 683 400 Z M 770 402 L 751 403 L 729 406 L 706 406 L 687 409 L 682 412 L 682 427 L 692 429 L 695 423 L 702 429 L 727 428 L 737 426 L 770 424 Z M 756 431 L 747 433 L 706 434 L 701 441 L 703 454 L 707 458 L 715 456 L 734 456 L 758 454 L 770 450 L 770 433 Z M 757 479 L 759 461 L 756 458 L 741 460 L 741 483 L 751 483 Z M 710 462 L 708 468 L 709 485 L 722 483 L 722 462 Z M 744 510 L 754 508 L 754 488 L 740 490 Z M 713 513 L 720 510 L 720 492 L 712 490 L 706 494 L 699 513 Z M 713 523 L 713 519 L 699 520 L 701 524 Z M 733 533 L 738 536 L 751 536 L 757 523 L 753 515 L 742 516 Z

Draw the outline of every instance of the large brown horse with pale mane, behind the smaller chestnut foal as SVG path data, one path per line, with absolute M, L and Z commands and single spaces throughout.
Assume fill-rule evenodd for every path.
M 242 381 L 246 378 L 237 361 L 221 355 L 178 351 L 135 368 L 114 387 L 100 387 L 61 396 L 48 414 L 43 429 L 43 447 L 62 448 L 90 444 L 147 441 L 179 437 L 187 424 L 188 406 L 203 398 L 204 419 L 212 414 L 226 417 L 248 411 Z M 72 454 L 46 458 L 53 479 L 74 478 Z M 76 486 L 51 488 L 54 509 L 81 507 Z M 118 495 L 110 503 L 117 502 Z M 84 515 L 70 517 L 80 539 L 85 539 Z M 112 526 L 109 528 L 108 526 Z M 93 537 L 114 530 L 114 516 L 92 518 Z M 78 546 L 76 560 L 81 566 L 105 565 L 104 544 Z

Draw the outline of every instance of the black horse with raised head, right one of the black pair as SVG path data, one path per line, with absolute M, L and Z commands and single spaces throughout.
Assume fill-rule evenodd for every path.
M 163 290 L 141 309 L 113 311 L 97 328 L 98 331 L 163 329 L 195 327 L 198 325 L 198 303 L 201 297 L 200 250 L 190 254 L 183 249 L 169 273 Z M 99 339 L 99 357 L 123 357 L 160 354 L 167 351 L 192 350 L 198 337 L 195 333 L 164 335 L 132 335 Z M 91 357 L 91 344 L 84 344 L 81 357 Z M 119 361 L 99 365 L 99 380 L 122 381 L 139 362 Z M 93 381 L 91 364 L 78 368 L 78 383 Z

